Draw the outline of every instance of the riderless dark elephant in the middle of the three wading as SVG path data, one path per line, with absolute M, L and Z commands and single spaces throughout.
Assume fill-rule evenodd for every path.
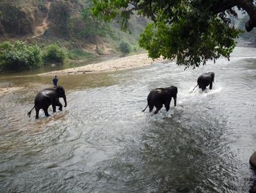
M 149 112 L 152 112 L 154 106 L 156 107 L 156 111 L 154 114 L 158 113 L 159 110 L 165 105 L 165 109 L 170 110 L 170 103 L 172 101 L 172 97 L 174 98 L 174 106 L 176 106 L 178 88 L 175 86 L 167 87 L 167 88 L 155 88 L 149 92 L 147 96 L 147 106 L 149 106 Z M 143 110 L 143 112 L 147 109 L 147 107 Z

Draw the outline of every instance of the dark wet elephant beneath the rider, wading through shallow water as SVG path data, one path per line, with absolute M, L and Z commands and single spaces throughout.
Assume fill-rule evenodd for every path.
M 40 109 L 44 110 L 44 114 L 46 116 L 50 116 L 48 114 L 48 107 L 50 105 L 53 106 L 53 112 L 56 112 L 56 106 L 60 107 L 59 110 L 62 110 L 62 103 L 59 101 L 60 97 L 64 99 L 64 107 L 66 108 L 66 95 L 62 86 L 57 86 L 56 88 L 46 88 L 38 92 L 37 96 L 35 96 L 35 105 L 32 108 L 32 110 L 35 108 L 35 119 L 38 119 Z M 32 110 L 28 112 L 28 117 L 30 117 Z

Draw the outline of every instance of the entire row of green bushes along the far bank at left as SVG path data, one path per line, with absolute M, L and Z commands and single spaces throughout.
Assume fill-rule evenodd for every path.
M 23 41 L 3 41 L 0 43 L 0 70 L 29 70 L 47 63 L 64 63 L 65 59 L 75 59 L 83 54 L 86 52 L 82 50 L 67 52 L 57 44 L 41 49 L 37 44 L 27 45 Z

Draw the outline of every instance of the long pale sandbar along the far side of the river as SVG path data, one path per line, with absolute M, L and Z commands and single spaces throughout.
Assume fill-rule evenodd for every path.
M 136 54 L 129 57 L 122 57 L 120 59 L 113 59 L 110 61 L 103 61 L 100 63 L 93 63 L 84 65 L 77 68 L 70 68 L 66 70 L 59 70 L 53 72 L 46 72 L 38 74 L 39 76 L 53 76 L 53 75 L 65 75 L 65 74 L 86 74 L 96 72 L 112 72 L 116 70 L 126 70 L 129 68 L 138 68 L 146 65 L 152 65 L 153 63 L 163 62 L 163 59 L 152 60 L 147 57 L 147 54 Z

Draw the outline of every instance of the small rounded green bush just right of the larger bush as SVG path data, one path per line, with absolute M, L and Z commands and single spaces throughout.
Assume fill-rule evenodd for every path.
M 45 63 L 64 63 L 66 52 L 57 44 L 48 45 L 44 48 L 43 59 Z

